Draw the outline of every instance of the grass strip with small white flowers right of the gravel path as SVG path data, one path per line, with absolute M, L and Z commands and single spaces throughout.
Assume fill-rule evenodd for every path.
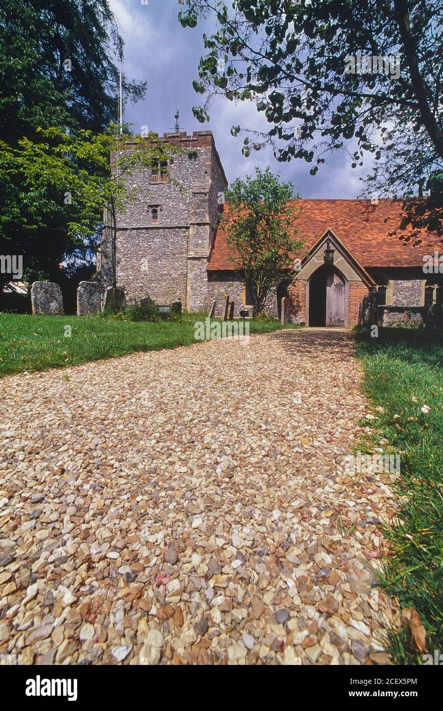
M 427 651 L 443 651 L 443 338 L 432 332 L 380 328 L 357 333 L 366 394 L 377 419 L 371 437 L 400 454 L 400 521 L 386 526 L 390 553 L 382 585 L 412 606 L 427 631 Z M 422 412 L 427 405 L 430 410 Z M 390 635 L 398 663 L 422 663 L 408 629 Z

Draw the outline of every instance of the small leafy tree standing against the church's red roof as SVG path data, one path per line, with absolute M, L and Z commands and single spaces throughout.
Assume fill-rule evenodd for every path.
M 304 246 L 294 240 L 299 210 L 288 204 L 293 193 L 292 183 L 280 183 L 269 167 L 256 168 L 256 176 L 244 181 L 237 178 L 226 191 L 231 216 L 226 240 L 234 268 L 244 275 L 254 316 L 263 311 L 270 291 L 288 279 L 293 254 Z

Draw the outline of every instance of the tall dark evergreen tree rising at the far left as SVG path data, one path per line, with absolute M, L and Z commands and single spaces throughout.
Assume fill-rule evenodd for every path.
M 118 111 L 123 41 L 107 0 L 4 0 L 0 6 L 0 139 L 11 158 L 22 139 L 39 144 L 39 129 L 104 132 Z M 124 100 L 138 100 L 144 84 L 123 77 Z M 23 149 L 23 146 L 22 146 Z M 8 158 L 9 156 L 9 158 Z M 82 164 L 79 164 L 81 169 Z M 0 254 L 23 255 L 28 279 L 57 279 L 58 264 L 84 258 L 86 243 L 68 228 L 66 183 L 30 193 L 21 172 L 0 173 Z M 10 277 L 0 274 L 0 299 Z

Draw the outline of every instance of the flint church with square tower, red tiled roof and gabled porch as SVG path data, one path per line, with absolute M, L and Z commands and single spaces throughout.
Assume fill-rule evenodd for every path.
M 248 294 L 226 242 L 227 181 L 212 132 L 165 133 L 158 140 L 182 152 L 167 171 L 153 166 L 133 178 L 142 190 L 118 218 L 117 285 L 128 303 L 150 296 L 160 305 L 180 300 L 188 311 L 209 311 L 215 301 L 216 316 L 229 295 L 239 314 Z M 269 315 L 280 316 L 287 296 L 292 323 L 350 328 L 375 303 L 385 325 L 420 324 L 441 301 L 438 261 L 432 273 L 425 268 L 439 245 L 429 236 L 418 246 L 400 239 L 401 201 L 295 203 L 301 208 L 295 239 L 304 240 L 305 250 L 294 255 L 294 270 L 268 297 Z M 97 257 L 97 279 L 104 286 L 112 283 L 109 252 L 104 230 Z

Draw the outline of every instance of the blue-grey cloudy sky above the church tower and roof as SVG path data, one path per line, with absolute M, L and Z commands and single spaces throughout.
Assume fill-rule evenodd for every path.
M 202 34 L 211 32 L 209 20 L 200 21 L 193 29 L 182 28 L 177 20 L 177 0 L 110 0 L 110 5 L 126 42 L 124 71 L 128 77 L 148 82 L 145 100 L 126 107 L 124 119 L 133 124 L 136 133 L 142 126 L 159 134 L 172 130 L 175 107 L 179 107 L 183 131 L 213 132 L 229 181 L 253 173 L 256 165 L 269 165 L 283 180 L 295 183 L 302 198 L 356 198 L 361 194 L 364 186 L 359 176 L 366 176 L 371 164 L 368 162 L 359 173 L 351 169 L 349 156 L 344 153 L 329 156 L 317 176 L 310 176 L 311 166 L 305 161 L 278 163 L 272 151 L 242 156 L 243 139 L 231 136 L 231 126 L 269 127 L 253 104 L 235 105 L 220 97 L 212 104 L 210 122 L 197 122 L 192 106 L 202 97 L 192 89 L 192 80 L 197 78 L 198 60 L 204 53 Z

